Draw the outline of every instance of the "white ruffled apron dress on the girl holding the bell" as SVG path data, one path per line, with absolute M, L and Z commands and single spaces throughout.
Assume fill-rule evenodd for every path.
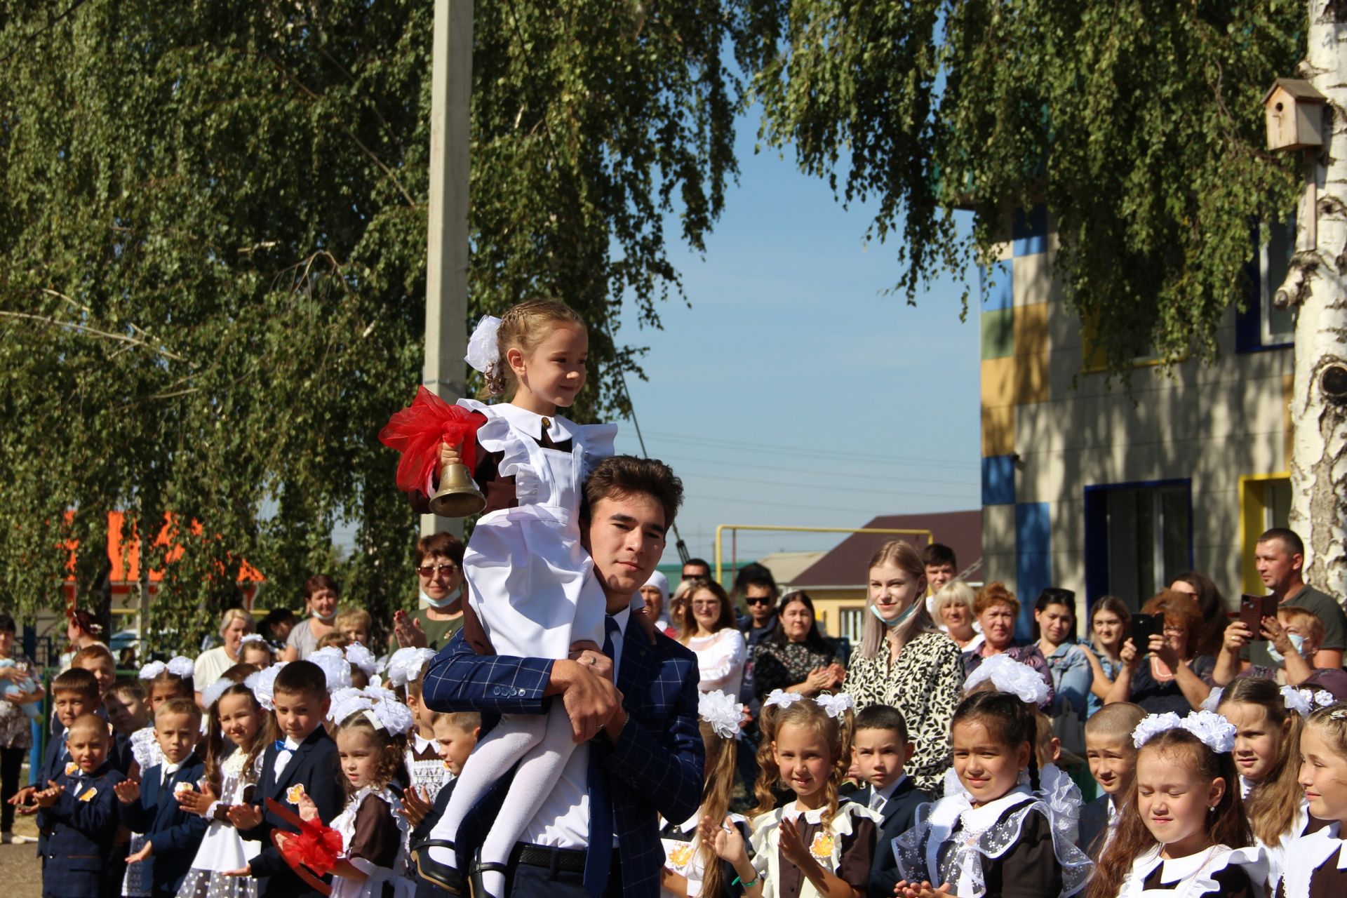
M 477 442 L 502 452 L 501 477 L 515 478 L 517 508 L 485 514 L 463 553 L 467 600 L 497 654 L 564 658 L 581 640 L 603 644 L 607 599 L 581 545 L 581 485 L 613 454 L 617 424 L 575 424 L 517 405 L 458 404 L 486 416 Z M 571 440 L 571 451 L 543 448 Z

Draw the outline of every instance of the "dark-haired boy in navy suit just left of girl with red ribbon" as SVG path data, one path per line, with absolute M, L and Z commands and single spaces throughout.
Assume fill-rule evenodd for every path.
M 318 806 L 323 823 L 341 813 L 346 802 L 345 780 L 337 759 L 337 743 L 323 728 L 329 704 L 327 677 L 313 661 L 291 661 L 276 675 L 272 705 L 276 731 L 284 739 L 268 746 L 263 755 L 255 804 L 229 809 L 229 821 L 238 828 L 238 835 L 261 843 L 261 854 L 229 875 L 255 876 L 259 898 L 322 895 L 290 868 L 272 844 L 272 831 L 295 832 L 295 828 L 268 810 L 265 800 L 272 798 L 298 812 L 299 796 L 307 794 Z

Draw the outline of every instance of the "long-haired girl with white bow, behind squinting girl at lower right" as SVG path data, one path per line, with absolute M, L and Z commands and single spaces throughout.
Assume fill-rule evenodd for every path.
M 1331 693 L 1320 697 L 1332 704 Z M 1235 727 L 1233 754 L 1239 794 L 1254 840 L 1268 854 L 1269 894 L 1281 882 L 1290 843 L 1305 835 L 1311 823 L 1296 780 L 1301 723 L 1313 701 L 1312 689 L 1278 688 L 1273 680 L 1259 677 L 1237 677 L 1224 689 L 1212 689 L 1207 699 Z

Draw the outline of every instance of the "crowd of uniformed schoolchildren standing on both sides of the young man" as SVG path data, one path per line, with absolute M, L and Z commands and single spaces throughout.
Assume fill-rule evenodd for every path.
M 259 644 L 260 645 L 260 644 Z M 252 646 L 248 646 L 252 648 Z M 361 644 L 240 662 L 198 693 L 189 658 L 116 680 L 101 646 L 51 684 L 35 785 L 43 894 L 445 894 L 431 837 L 481 719 L 422 701 L 434 652 Z M 741 707 L 703 693 L 698 812 L 664 821 L 667 895 L 1119 898 L 1347 894 L 1347 704 L 1242 677 L 1204 710 L 1106 705 L 1084 728 L 1099 798 L 1053 765 L 1043 679 L 1005 657 L 966 684 L 943 794 L 904 773 L 902 715 L 773 692 L 757 806 L 731 813 Z M 1294 859 L 1293 862 L 1290 859 Z

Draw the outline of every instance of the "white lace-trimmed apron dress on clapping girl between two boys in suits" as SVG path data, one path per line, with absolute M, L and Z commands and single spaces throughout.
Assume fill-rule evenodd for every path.
M 178 898 L 253 898 L 257 894 L 257 880 L 252 876 L 221 874 L 249 864 L 261 851 L 261 843 L 245 841 L 228 820 L 218 820 L 216 813 L 221 808 L 244 804 L 244 792 L 257 784 L 264 753 L 259 751 L 251 767 L 244 770 L 247 755 L 240 749 L 220 763 L 220 801 L 203 815 L 210 827 L 197 848 L 191 870 L 182 880 Z

